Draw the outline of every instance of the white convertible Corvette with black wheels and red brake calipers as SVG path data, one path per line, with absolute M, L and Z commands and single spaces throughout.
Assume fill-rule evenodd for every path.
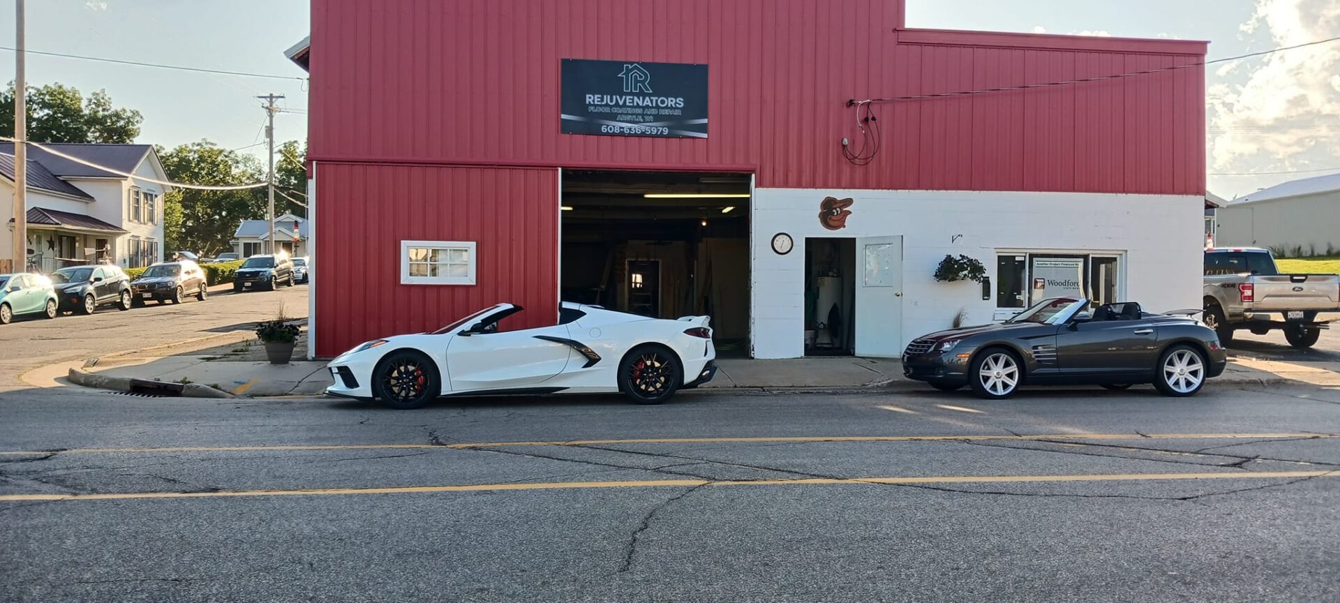
M 501 331 L 497 304 L 433 332 L 363 343 L 331 360 L 327 394 L 417 409 L 440 395 L 622 391 L 658 405 L 717 373 L 708 316 L 678 320 L 563 303 L 559 324 Z

